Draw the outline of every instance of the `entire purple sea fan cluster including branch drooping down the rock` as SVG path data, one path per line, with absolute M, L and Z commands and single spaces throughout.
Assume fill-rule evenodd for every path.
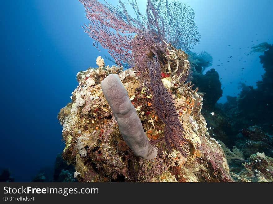
M 147 92 L 160 98 L 153 100 L 153 106 L 166 125 L 166 145 L 170 151 L 172 146 L 176 146 L 186 157 L 189 148 L 184 138 L 184 129 L 176 114 L 171 93 L 161 82 L 159 61 L 166 56 L 168 43 L 188 51 L 200 42 L 193 10 L 180 2 L 147 0 L 144 16 L 139 11 L 136 0 L 125 3 L 119 0 L 118 7 L 96 0 L 80 2 L 90 20 L 83 28 L 94 39 L 93 45 L 98 47 L 100 43 L 103 48 L 108 49 L 118 65 L 127 63 L 132 66 Z M 136 18 L 128 14 L 125 4 L 132 6 Z

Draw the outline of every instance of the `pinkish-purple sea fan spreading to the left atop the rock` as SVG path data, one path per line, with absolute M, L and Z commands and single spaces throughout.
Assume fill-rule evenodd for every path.
M 145 17 L 138 11 L 136 2 L 130 4 L 137 14 L 137 19 L 132 18 L 125 5 L 119 1 L 122 11 L 110 4 L 104 5 L 96 0 L 80 0 L 90 20 L 83 27 L 85 32 L 94 39 L 93 45 L 98 43 L 108 49 L 110 55 L 118 65 L 128 63 L 133 67 L 141 84 L 147 81 L 147 61 L 156 51 L 155 31 L 147 27 Z M 141 16 L 141 18 L 140 18 Z

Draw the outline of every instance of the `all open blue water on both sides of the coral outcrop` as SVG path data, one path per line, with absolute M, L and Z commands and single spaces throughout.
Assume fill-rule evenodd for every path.
M 137 2 L 145 5 L 144 0 Z M 236 96 L 240 81 L 255 87 L 264 72 L 258 57 L 262 53 L 249 53 L 253 45 L 273 43 L 273 2 L 183 3 L 195 11 L 201 34 L 201 43 L 192 51 L 213 56 L 209 68 L 216 69 L 224 88 L 219 102 L 225 102 L 226 95 Z M 41 168 L 52 167 L 64 148 L 57 114 L 70 101 L 77 72 L 96 67 L 96 57 L 108 54 L 94 48 L 84 33 L 81 25 L 88 20 L 78 1 L 3 1 L 0 19 L 0 168 L 9 168 L 15 181 L 30 181 Z

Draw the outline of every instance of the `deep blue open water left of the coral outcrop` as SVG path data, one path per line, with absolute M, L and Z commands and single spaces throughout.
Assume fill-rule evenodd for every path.
M 62 151 L 57 114 L 98 51 L 78 1 L 5 1 L 1 10 L 0 166 L 30 181 Z

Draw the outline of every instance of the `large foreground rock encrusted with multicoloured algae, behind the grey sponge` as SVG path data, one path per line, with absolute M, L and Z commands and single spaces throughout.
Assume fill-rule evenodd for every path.
M 184 52 L 169 53 L 165 66 L 170 70 L 189 66 Z M 207 134 L 206 121 L 200 113 L 202 97 L 197 90 L 192 90 L 189 83 L 175 81 L 173 75 L 164 75 L 164 84 L 174 98 L 177 115 L 191 144 L 190 155 L 185 158 L 175 148 L 169 152 L 165 146 L 165 124 L 154 111 L 153 96 L 147 95 L 132 69 L 121 70 L 118 66 L 100 66 L 79 72 L 79 85 L 72 92 L 72 102 L 58 115 L 65 140 L 62 155 L 75 166 L 80 182 L 233 181 L 222 148 Z M 135 156 L 119 132 L 100 84 L 110 73 L 119 75 L 147 138 L 158 147 L 158 156 L 152 161 Z

